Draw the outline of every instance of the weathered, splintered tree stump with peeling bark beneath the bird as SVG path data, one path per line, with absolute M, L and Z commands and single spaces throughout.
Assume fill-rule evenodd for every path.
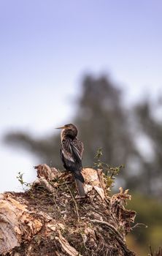
M 126 246 L 135 211 L 128 191 L 109 196 L 101 170 L 85 168 L 86 197 L 72 175 L 38 165 L 26 192 L 0 195 L 0 255 L 135 255 Z

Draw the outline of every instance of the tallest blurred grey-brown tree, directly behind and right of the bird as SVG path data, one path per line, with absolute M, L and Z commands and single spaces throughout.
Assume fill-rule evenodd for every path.
M 122 93 L 109 78 L 85 77 L 74 118 L 85 144 L 85 165 L 92 165 L 99 147 L 104 153 L 104 162 L 110 165 L 127 165 L 130 156 L 138 155 L 128 116 Z

